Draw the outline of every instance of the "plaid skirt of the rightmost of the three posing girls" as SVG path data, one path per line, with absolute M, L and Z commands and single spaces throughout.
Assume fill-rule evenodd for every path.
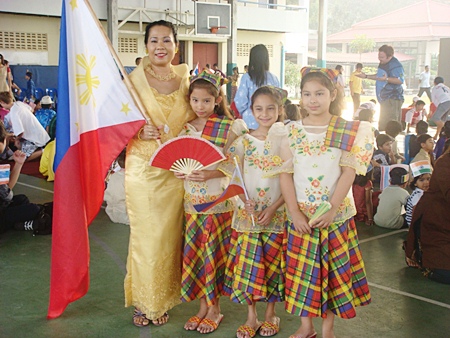
M 301 317 L 326 317 L 331 310 L 353 318 L 355 306 L 370 303 L 364 262 L 353 218 L 299 234 L 288 224 L 286 253 L 287 312 Z

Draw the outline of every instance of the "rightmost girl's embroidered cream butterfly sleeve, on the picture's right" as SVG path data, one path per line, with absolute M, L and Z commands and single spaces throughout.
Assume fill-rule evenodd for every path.
M 340 165 L 355 169 L 356 175 L 365 175 L 373 154 L 373 131 L 369 122 L 362 121 L 350 151 L 342 151 Z

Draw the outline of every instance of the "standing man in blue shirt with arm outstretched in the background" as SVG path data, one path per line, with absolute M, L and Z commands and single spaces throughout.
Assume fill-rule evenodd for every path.
M 376 74 L 365 73 L 357 76 L 363 79 L 376 80 L 377 99 L 380 102 L 380 119 L 378 130 L 385 131 L 386 124 L 391 121 L 401 121 L 403 97 L 403 83 L 405 71 L 403 66 L 394 57 L 394 48 L 383 45 L 378 49 L 378 71 Z

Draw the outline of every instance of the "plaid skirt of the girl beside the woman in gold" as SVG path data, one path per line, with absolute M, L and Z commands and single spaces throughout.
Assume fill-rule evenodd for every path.
M 208 306 L 224 295 L 233 212 L 186 214 L 181 300 L 205 298 Z

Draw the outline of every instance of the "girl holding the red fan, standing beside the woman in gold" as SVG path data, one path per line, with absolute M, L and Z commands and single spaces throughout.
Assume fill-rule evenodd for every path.
M 231 118 L 220 90 L 223 84 L 220 76 L 203 71 L 190 80 L 188 98 L 197 118 L 188 122 L 180 135 L 204 138 L 223 151 L 228 141 L 231 144 L 238 134 L 246 132 L 245 123 Z M 219 297 L 224 294 L 234 205 L 225 201 L 204 212 L 194 208 L 196 204 L 216 200 L 227 187 L 229 180 L 217 166 L 195 170 L 189 175 L 175 174 L 184 180 L 185 189 L 181 300 L 200 299 L 198 313 L 188 319 L 184 328 L 200 333 L 215 331 L 223 318 Z

